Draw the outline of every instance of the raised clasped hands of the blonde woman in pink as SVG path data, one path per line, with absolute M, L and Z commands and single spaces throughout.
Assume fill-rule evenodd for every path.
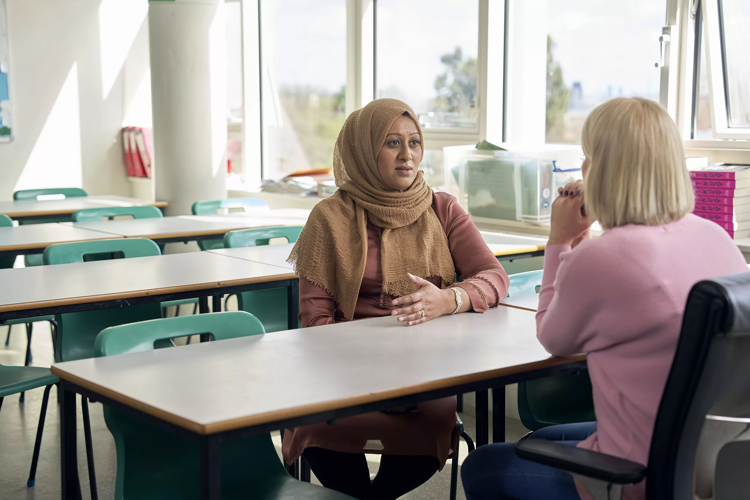
M 547 245 L 573 246 L 588 235 L 591 221 L 583 208 L 583 181 L 568 182 L 552 202 Z

